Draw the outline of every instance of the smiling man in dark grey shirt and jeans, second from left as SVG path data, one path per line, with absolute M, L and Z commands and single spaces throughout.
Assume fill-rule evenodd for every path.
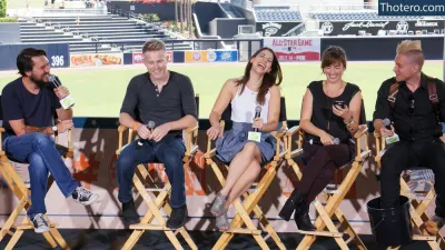
M 171 183 L 172 212 L 167 227 L 177 229 L 188 218 L 181 131 L 197 123 L 195 92 L 188 77 L 167 69 L 167 51 L 161 40 L 147 41 L 142 54 L 147 72 L 131 79 L 119 116 L 119 122 L 137 131 L 141 140 L 127 146 L 117 160 L 118 199 L 126 226 L 137 223 L 139 216 L 131 196 L 136 166 L 164 163 Z M 147 128 L 149 123 L 156 124 L 152 131 Z

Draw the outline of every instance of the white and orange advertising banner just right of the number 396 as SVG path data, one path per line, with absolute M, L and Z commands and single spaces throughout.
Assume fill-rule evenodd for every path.
M 122 53 L 82 53 L 71 54 L 71 67 L 120 66 Z

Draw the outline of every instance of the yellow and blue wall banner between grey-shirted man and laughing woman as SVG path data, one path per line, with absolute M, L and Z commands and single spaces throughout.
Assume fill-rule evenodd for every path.
M 238 50 L 189 50 L 186 62 L 236 62 Z

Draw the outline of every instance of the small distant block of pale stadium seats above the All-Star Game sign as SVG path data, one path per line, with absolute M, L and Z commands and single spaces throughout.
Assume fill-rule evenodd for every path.
M 255 17 L 258 22 L 301 21 L 298 9 L 289 6 L 255 6 Z

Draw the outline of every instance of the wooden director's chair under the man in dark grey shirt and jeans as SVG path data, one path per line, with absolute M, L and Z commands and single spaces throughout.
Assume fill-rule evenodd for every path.
M 197 103 L 197 108 L 199 110 L 199 96 L 195 96 L 195 100 Z M 199 113 L 199 111 L 198 111 Z M 135 112 L 137 121 L 141 122 L 137 111 Z M 144 123 L 144 122 L 141 122 Z M 119 157 L 120 152 L 122 151 L 123 144 L 123 132 L 127 130 L 127 127 L 125 126 L 119 126 L 118 132 L 119 132 L 119 148 L 116 151 L 116 154 Z M 134 141 L 134 133 L 137 134 L 137 131 L 134 131 L 132 129 L 128 129 L 128 143 Z M 182 133 L 186 138 L 185 144 L 186 144 L 186 153 L 182 158 L 184 162 L 184 168 L 194 159 L 195 153 L 198 151 L 198 146 L 197 146 L 197 137 L 198 137 L 198 124 L 195 127 L 188 128 L 184 131 Z M 152 169 L 154 162 L 148 162 L 148 168 Z M 131 236 L 128 238 L 127 242 L 123 244 L 122 250 L 126 249 L 132 249 L 135 244 L 138 242 L 140 237 L 146 230 L 157 230 L 157 231 L 164 231 L 169 239 L 169 241 L 174 244 L 175 249 L 182 249 L 178 238 L 176 234 L 179 232 L 182 238 L 186 240 L 190 249 L 198 249 L 198 247 L 195 244 L 190 236 L 188 234 L 187 230 L 185 227 L 181 227 L 179 229 L 170 229 L 167 227 L 167 222 L 165 218 L 162 217 L 161 209 L 167 214 L 171 214 L 171 206 L 168 203 L 168 198 L 171 192 L 171 184 L 167 180 L 165 183 L 160 183 L 160 181 L 155 180 L 152 176 L 149 173 L 149 170 L 144 166 L 144 163 L 138 164 L 135 171 L 134 176 L 134 184 L 135 188 L 138 190 L 140 196 L 142 197 L 144 201 L 148 206 L 148 212 L 144 216 L 144 218 L 140 220 L 139 223 L 137 224 L 131 224 L 130 229 L 132 229 Z M 162 170 L 159 170 L 160 172 L 164 172 Z M 158 176 L 162 173 L 157 173 Z M 164 187 L 162 187 L 164 186 Z M 154 188 L 150 188 L 154 187 Z M 156 194 L 157 193 L 157 194 Z M 155 197 L 152 199 L 151 197 Z M 158 221 L 158 224 L 152 224 L 154 219 Z

